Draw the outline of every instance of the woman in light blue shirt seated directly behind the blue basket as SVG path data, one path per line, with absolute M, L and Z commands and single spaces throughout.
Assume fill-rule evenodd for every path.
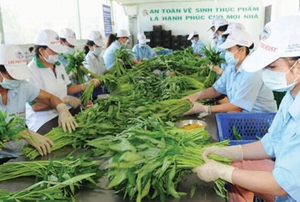
M 185 114 L 217 112 L 276 112 L 277 106 L 273 92 L 262 81 L 261 71 L 250 73 L 243 69 L 253 41 L 248 33 L 242 30 L 232 32 L 219 48 L 226 50 L 227 67 L 221 77 L 201 92 L 184 97 L 190 100 L 193 107 Z M 215 98 L 224 94 L 229 102 L 205 106 L 197 102 L 201 99 Z

